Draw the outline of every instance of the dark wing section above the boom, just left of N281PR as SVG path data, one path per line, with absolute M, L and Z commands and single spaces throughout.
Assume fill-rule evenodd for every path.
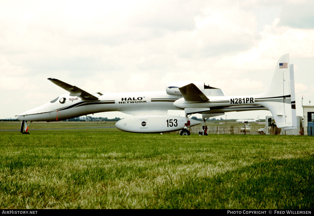
M 196 87 L 195 84 L 190 83 L 186 86 L 179 88 L 184 100 L 193 102 L 205 102 L 209 101 L 208 97 Z

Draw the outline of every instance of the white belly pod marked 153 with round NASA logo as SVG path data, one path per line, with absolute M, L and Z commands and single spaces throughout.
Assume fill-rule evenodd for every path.
M 200 121 L 189 119 L 190 125 L 200 124 Z M 171 115 L 143 115 L 121 119 L 116 123 L 120 130 L 133 133 L 162 133 L 181 130 L 185 118 Z

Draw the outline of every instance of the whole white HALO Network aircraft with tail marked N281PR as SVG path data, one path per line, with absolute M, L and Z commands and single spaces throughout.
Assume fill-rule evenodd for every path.
M 133 133 L 182 129 L 181 135 L 189 135 L 188 127 L 201 123 L 188 118 L 193 113 L 201 113 L 204 124 L 209 117 L 248 110 L 270 110 L 278 128 L 296 127 L 296 119 L 294 122 L 292 118 L 296 116 L 293 65 L 289 65 L 288 54 L 280 57 L 268 91 L 252 96 L 225 96 L 221 89 L 206 86 L 203 82 L 167 83 L 165 92 L 90 94 L 60 80 L 48 80 L 70 93 L 17 115 L 16 118 L 22 121 L 21 133 L 28 133 L 27 121 L 62 121 L 110 111 L 132 114 L 133 117 L 119 120 L 116 127 Z M 168 115 L 168 110 L 184 110 L 185 117 Z

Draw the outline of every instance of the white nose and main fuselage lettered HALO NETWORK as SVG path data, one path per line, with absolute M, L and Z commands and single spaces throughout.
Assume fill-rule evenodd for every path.
M 180 96 L 171 96 L 166 92 L 127 92 L 104 93 L 97 95 L 99 100 L 83 100 L 65 94 L 40 107 L 17 115 L 17 119 L 25 121 L 62 121 L 83 115 L 120 111 L 128 114 L 154 114 L 154 110 L 178 110 L 173 102 Z

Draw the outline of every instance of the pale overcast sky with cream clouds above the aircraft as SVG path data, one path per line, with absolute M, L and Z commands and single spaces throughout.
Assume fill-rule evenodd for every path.
M 0 119 L 67 93 L 49 77 L 90 93 L 165 91 L 167 82 L 192 80 L 226 95 L 259 94 L 286 53 L 301 116 L 302 95 L 314 105 L 313 8 L 312 0 L 0 0 Z

